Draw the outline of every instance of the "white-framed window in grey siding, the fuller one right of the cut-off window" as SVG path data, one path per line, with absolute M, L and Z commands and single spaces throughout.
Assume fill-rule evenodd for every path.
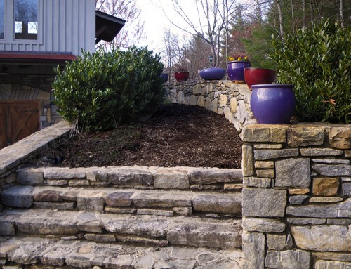
M 3 0 L 0 0 L 3 1 Z M 38 39 L 38 0 L 15 0 L 15 39 Z

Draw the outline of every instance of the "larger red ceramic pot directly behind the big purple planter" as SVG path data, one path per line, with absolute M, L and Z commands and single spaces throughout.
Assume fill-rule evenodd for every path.
M 247 86 L 251 89 L 251 85 L 272 84 L 277 77 L 277 72 L 267 68 L 246 67 L 244 77 Z

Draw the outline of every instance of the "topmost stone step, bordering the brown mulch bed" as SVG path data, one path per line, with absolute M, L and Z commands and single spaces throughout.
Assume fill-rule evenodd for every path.
M 41 167 L 20 169 L 20 185 L 117 187 L 164 190 L 221 190 L 242 188 L 241 169 L 193 167 L 109 166 L 88 168 Z

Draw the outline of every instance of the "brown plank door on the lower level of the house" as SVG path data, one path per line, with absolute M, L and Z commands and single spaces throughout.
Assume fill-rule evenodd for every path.
M 0 148 L 31 135 L 39 130 L 39 103 L 0 103 L 0 124 Z

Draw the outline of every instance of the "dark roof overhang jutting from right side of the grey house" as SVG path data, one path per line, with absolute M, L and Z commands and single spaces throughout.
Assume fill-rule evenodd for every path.
M 95 11 L 95 18 L 95 44 L 98 44 L 101 40 L 111 42 L 126 23 L 126 20 L 101 11 Z

